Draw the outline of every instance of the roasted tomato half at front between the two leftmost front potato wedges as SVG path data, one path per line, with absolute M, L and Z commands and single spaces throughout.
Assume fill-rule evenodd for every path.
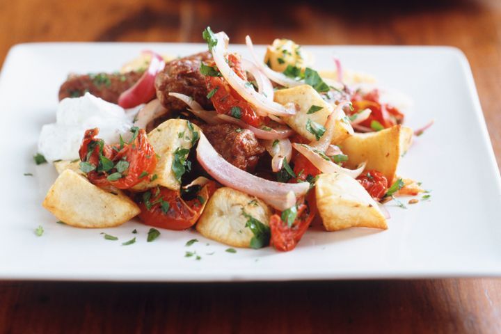
M 209 190 L 213 187 L 207 184 L 200 191 L 191 193 L 189 196 L 191 199 L 183 200 L 180 191 L 157 186 L 138 197 L 141 208 L 139 218 L 146 225 L 157 228 L 169 230 L 191 228 L 202 214 L 209 199 Z

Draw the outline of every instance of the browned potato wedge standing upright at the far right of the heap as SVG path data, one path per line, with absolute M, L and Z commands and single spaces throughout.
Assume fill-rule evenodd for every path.
M 392 182 L 397 166 L 405 150 L 412 141 L 412 130 L 395 125 L 379 132 L 353 134 L 341 143 L 344 154 L 348 155 L 347 167 L 356 168 L 367 161 L 365 170 L 378 170 Z

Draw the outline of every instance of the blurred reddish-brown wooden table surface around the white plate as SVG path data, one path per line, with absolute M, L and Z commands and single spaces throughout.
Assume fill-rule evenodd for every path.
M 454 45 L 470 60 L 501 162 L 500 1 L 236 2 L 3 0 L 0 61 L 19 42 L 200 42 L 207 25 L 240 42 L 252 33 L 257 43 L 283 36 L 304 44 Z M 500 331 L 495 279 L 0 283 L 0 333 Z

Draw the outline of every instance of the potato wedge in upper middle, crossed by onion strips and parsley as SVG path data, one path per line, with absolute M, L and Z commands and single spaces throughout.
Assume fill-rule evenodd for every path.
M 308 120 L 315 122 L 318 125 L 324 126 L 327 117 L 333 111 L 331 104 L 328 104 L 321 98 L 320 94 L 312 86 L 302 85 L 293 88 L 280 89 L 275 92 L 275 102 L 286 104 L 292 102 L 299 107 L 299 111 L 294 116 L 284 118 L 289 127 L 301 134 L 309 141 L 315 140 L 315 135 L 306 129 Z M 315 113 L 308 113 L 312 106 L 319 106 L 321 109 Z M 335 132 L 332 143 L 338 144 L 345 138 L 353 134 L 351 125 L 343 120 L 337 120 L 335 123 Z

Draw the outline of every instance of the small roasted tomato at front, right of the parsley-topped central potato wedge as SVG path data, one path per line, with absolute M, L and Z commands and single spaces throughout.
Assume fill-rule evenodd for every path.
M 292 226 L 287 225 L 279 214 L 271 216 L 269 225 L 271 229 L 271 245 L 277 250 L 287 252 L 296 248 L 310 226 L 315 214 L 310 212 L 308 205 L 301 204 L 297 207 L 297 216 Z

